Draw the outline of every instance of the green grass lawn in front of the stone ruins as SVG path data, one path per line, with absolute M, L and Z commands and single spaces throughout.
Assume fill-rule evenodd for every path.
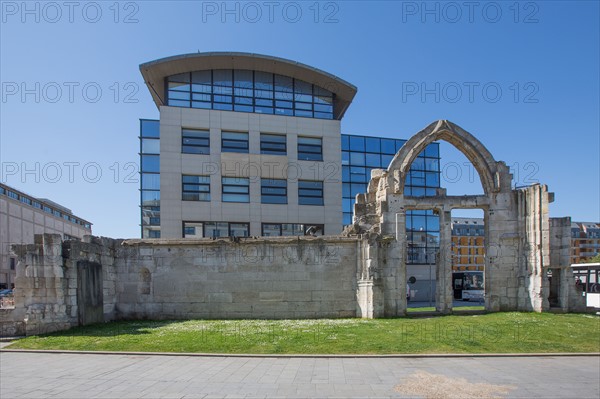
M 8 348 L 251 354 L 600 352 L 600 318 L 508 312 L 375 320 L 114 322 L 32 336 Z

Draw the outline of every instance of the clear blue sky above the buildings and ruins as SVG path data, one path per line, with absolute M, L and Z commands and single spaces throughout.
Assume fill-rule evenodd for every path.
M 2 1 L 0 179 L 139 236 L 139 64 L 197 51 L 299 61 L 358 87 L 344 133 L 409 138 L 437 119 L 478 137 L 551 216 L 600 220 L 597 1 Z M 441 147 L 442 184 L 480 191 Z

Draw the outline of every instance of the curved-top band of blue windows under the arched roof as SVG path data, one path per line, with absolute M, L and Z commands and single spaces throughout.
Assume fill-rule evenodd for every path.
M 333 119 L 334 94 L 288 76 L 245 69 L 215 69 L 166 78 L 173 107 Z

